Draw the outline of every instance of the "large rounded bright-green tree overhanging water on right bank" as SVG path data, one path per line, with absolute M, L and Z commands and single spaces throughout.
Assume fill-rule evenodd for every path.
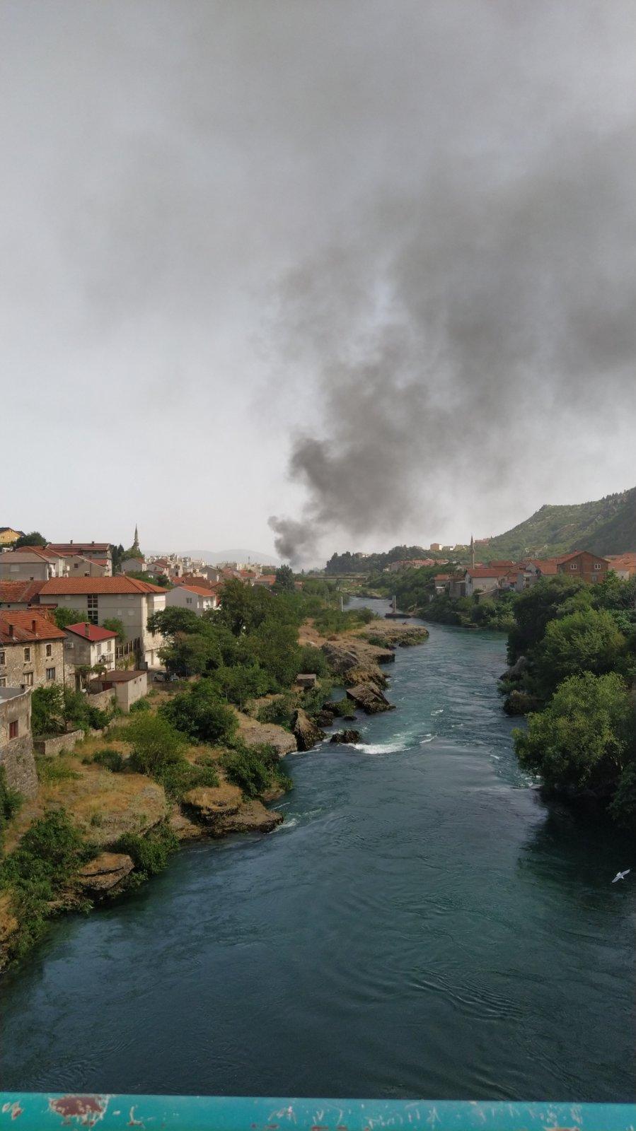
M 571 675 L 513 736 L 519 765 L 548 787 L 611 796 L 635 754 L 627 687 L 616 672 Z

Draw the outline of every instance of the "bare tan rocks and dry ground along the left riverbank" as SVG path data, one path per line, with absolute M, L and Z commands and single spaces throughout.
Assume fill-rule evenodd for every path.
M 282 759 L 323 741 L 323 727 L 338 717 L 353 720 L 356 709 L 369 715 L 392 710 L 383 668 L 395 661 L 397 647 L 420 644 L 427 637 L 421 625 L 395 622 L 372 622 L 329 638 L 321 637 L 311 623 L 303 625 L 300 642 L 321 650 L 333 676 L 345 685 L 346 700 L 332 702 L 325 694 L 320 701 L 319 684 L 307 692 L 293 689 L 287 696 L 293 710 L 285 726 L 261 723 L 252 714 L 237 710 L 240 741 L 248 750 L 273 748 Z M 153 700 L 153 709 L 164 696 L 162 692 Z M 351 743 L 356 739 L 359 733 L 349 727 L 332 741 Z M 111 754 L 119 756 L 117 771 L 98 760 L 106 744 Z M 273 785 L 258 796 L 246 794 L 227 779 L 223 749 L 194 745 L 187 750 L 192 767 L 213 770 L 216 784 L 187 789 L 179 800 L 152 777 L 129 771 L 130 752 L 126 726 L 119 725 L 110 734 L 79 742 L 72 751 L 41 760 L 37 794 L 10 822 L 3 847 L 6 855 L 22 848 L 22 838 L 46 814 L 58 812 L 68 818 L 85 851 L 81 863 L 55 892 L 49 914 L 88 909 L 138 886 L 158 870 L 148 863 L 155 849 L 165 860 L 180 843 L 234 832 L 270 832 L 283 821 L 280 812 L 268 808 L 283 795 L 283 788 Z M 0 969 L 26 946 L 23 912 L 19 901 L 7 892 L 0 895 Z

